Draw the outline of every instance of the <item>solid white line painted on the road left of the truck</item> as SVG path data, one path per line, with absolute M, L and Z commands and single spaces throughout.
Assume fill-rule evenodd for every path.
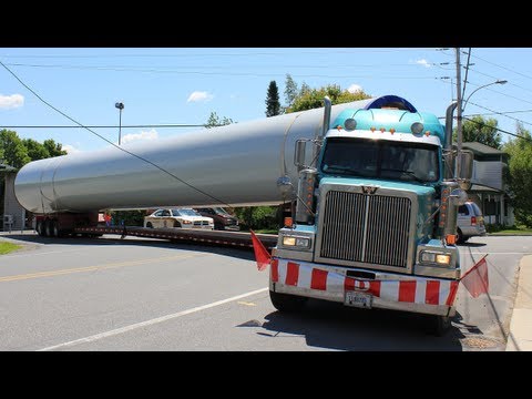
M 115 336 L 115 335 L 119 335 L 119 334 L 124 334 L 124 332 L 127 332 L 127 331 L 132 331 L 132 330 L 137 329 L 137 328 L 153 326 L 153 325 L 158 324 L 158 323 L 163 323 L 163 321 L 167 321 L 167 320 L 171 320 L 171 319 L 174 319 L 174 318 L 177 318 L 177 317 L 191 315 L 191 314 L 196 313 L 196 311 L 209 309 L 209 308 L 213 308 L 213 307 L 216 307 L 216 306 L 219 306 L 219 305 L 224 305 L 224 304 L 237 300 L 237 299 L 242 299 L 242 298 L 255 295 L 255 294 L 265 293 L 268 289 L 269 289 L 268 287 L 256 289 L 256 290 L 245 293 L 245 294 L 242 294 L 242 295 L 237 295 L 237 296 L 234 296 L 234 297 L 231 297 L 231 298 L 227 298 L 227 299 L 217 300 L 217 301 L 212 303 L 212 304 L 198 306 L 198 307 L 187 309 L 187 310 L 177 311 L 177 313 L 172 314 L 172 315 L 161 316 L 161 317 L 157 317 L 157 318 L 154 318 L 154 319 L 151 319 L 151 320 L 136 323 L 134 325 L 125 326 L 125 327 L 122 327 L 122 328 L 116 328 L 114 330 L 110 330 L 110 331 L 106 331 L 106 332 L 100 332 L 100 334 L 96 334 L 96 335 L 93 335 L 93 336 L 90 336 L 90 337 L 80 338 L 80 339 L 69 341 L 69 342 L 63 342 L 63 344 L 54 345 L 54 346 L 51 346 L 51 347 L 38 349 L 37 351 L 54 350 L 54 349 L 65 348 L 65 347 L 70 347 L 70 346 L 79 345 L 79 344 L 92 342 L 92 341 L 95 341 L 95 340 L 99 340 L 99 339 L 112 337 L 112 336 Z

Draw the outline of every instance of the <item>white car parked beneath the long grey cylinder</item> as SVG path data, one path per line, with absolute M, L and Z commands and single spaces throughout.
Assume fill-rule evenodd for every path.
M 212 217 L 200 215 L 192 208 L 157 209 L 144 217 L 144 227 L 214 229 L 214 221 Z

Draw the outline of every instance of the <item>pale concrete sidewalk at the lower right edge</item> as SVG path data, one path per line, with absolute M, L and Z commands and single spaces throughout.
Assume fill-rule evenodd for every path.
M 523 256 L 519 266 L 518 295 L 507 351 L 532 350 L 532 255 Z

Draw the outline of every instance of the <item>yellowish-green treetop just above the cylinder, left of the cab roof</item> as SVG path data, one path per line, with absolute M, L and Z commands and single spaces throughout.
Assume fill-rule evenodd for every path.
M 332 104 L 342 104 L 346 102 L 369 99 L 370 96 L 364 91 L 350 93 L 341 90 L 338 84 L 329 84 L 319 89 L 310 89 L 305 82 L 301 85 L 299 94 L 294 100 L 291 106 L 286 112 L 297 112 L 313 110 L 324 106 L 324 98 L 328 95 Z

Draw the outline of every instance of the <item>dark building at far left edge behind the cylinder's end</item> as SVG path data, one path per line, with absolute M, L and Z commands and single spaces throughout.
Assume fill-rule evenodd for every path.
M 20 206 L 14 196 L 14 177 L 17 170 L 6 165 L 0 160 L 0 215 L 2 224 L 0 231 L 23 229 L 25 225 L 25 209 Z

